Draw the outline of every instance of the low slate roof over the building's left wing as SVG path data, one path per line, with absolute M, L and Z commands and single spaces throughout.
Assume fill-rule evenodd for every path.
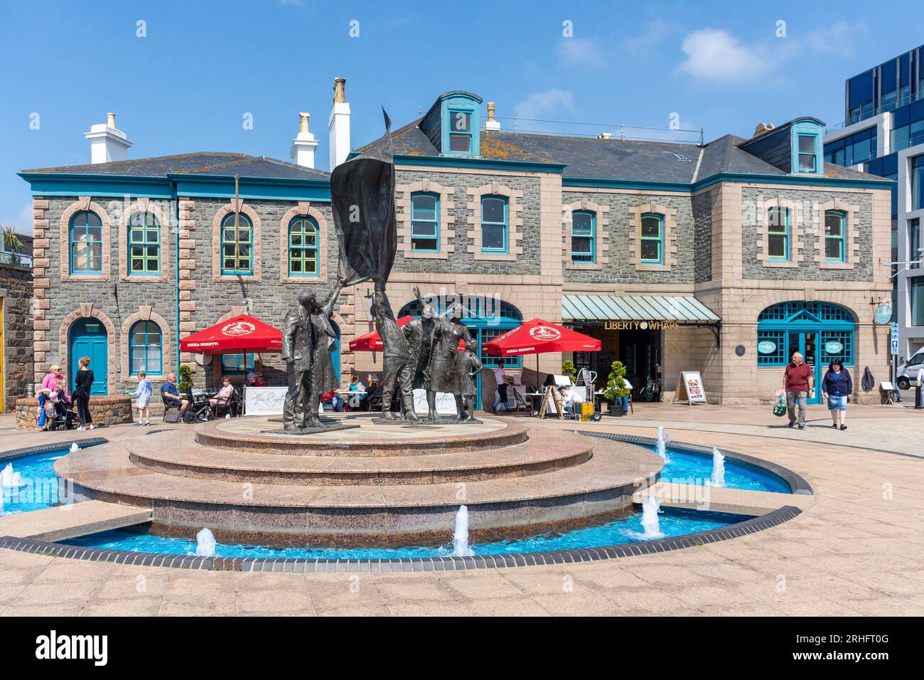
M 330 173 L 297 166 L 294 163 L 247 154 L 198 152 L 195 154 L 162 155 L 154 158 L 98 163 L 86 166 L 45 167 L 24 170 L 24 174 L 55 172 L 73 175 L 121 175 L 129 177 L 165 178 L 168 173 L 180 175 L 217 175 L 224 177 L 260 177 L 268 179 L 328 179 Z

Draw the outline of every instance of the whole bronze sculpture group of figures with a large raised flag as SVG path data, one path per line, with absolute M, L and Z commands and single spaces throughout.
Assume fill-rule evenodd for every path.
M 384 111 L 383 111 L 384 114 Z M 298 295 L 298 303 L 286 315 L 282 358 L 286 361 L 288 391 L 283 411 L 284 430 L 316 432 L 344 427 L 325 423 L 320 417 L 321 395 L 339 387 L 332 351 L 334 303 L 346 286 L 373 282 L 372 317 L 383 342 L 382 419 L 411 424 L 440 422 L 437 395 L 456 399 L 456 422 L 478 422 L 466 410 L 473 403 L 474 375 L 480 371 L 477 346 L 462 323 L 464 308 L 450 306 L 439 315 L 424 301 L 418 288 L 420 315 L 404 328 L 395 320 L 385 283 L 395 263 L 395 165 L 392 155 L 391 121 L 385 118 L 385 134 L 362 154 L 334 168 L 331 204 L 339 243 L 338 281 L 323 303 L 314 291 Z M 459 346 L 465 341 L 465 350 Z M 414 389 L 427 393 L 427 415 L 414 409 Z M 395 390 L 401 393 L 401 411 L 392 411 Z M 348 427 L 348 426 L 347 426 Z

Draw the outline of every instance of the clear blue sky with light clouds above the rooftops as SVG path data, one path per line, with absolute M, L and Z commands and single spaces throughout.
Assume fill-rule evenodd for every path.
M 924 43 L 920 5 L 910 1 L 873 13 L 869 3 L 822 9 L 804 0 L 2 0 L 0 16 L 0 222 L 25 230 L 30 196 L 15 173 L 89 163 L 82 133 L 107 111 L 134 142 L 130 158 L 230 151 L 288 160 L 298 111 L 308 110 L 322 169 L 334 76 L 346 78 L 354 146 L 381 134 L 379 105 L 397 126 L 447 90 L 478 93 L 501 117 L 601 124 L 522 121 L 520 130 L 598 132 L 619 121 L 666 129 L 678 114 L 709 141 L 749 136 L 761 120 L 839 122 L 845 78 Z

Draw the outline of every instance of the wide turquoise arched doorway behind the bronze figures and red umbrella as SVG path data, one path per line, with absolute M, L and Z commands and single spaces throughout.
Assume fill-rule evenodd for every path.
M 517 328 L 523 323 L 523 316 L 519 310 L 510 303 L 496 298 L 481 297 L 478 295 L 460 296 L 460 295 L 440 295 L 432 298 L 425 298 L 430 302 L 439 314 L 443 314 L 450 304 L 459 303 L 465 307 L 466 315 L 462 318 L 462 323 L 468 326 L 471 335 L 478 342 L 479 358 L 481 364 L 491 369 L 499 364 L 505 368 L 522 367 L 522 357 L 500 357 L 484 353 L 484 343 L 493 340 L 499 335 L 503 335 L 511 328 Z M 420 303 L 416 300 L 407 303 L 401 308 L 397 317 L 402 316 L 419 316 Z M 481 408 L 481 376 L 480 372 L 475 377 L 475 408 Z M 489 395 L 490 396 L 490 395 Z M 493 400 L 492 400 L 493 401 Z

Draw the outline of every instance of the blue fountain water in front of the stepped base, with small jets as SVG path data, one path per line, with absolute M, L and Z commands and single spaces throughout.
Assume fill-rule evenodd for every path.
M 681 536 L 697 531 L 721 528 L 748 519 L 747 516 L 728 513 L 711 513 L 696 510 L 663 508 L 660 528 L 664 536 Z M 633 513 L 601 526 L 576 529 L 565 534 L 548 533 L 517 540 L 492 543 L 474 543 L 469 546 L 475 555 L 497 555 L 511 552 L 540 552 L 542 550 L 575 550 L 625 543 L 637 543 L 644 536 L 642 513 Z M 170 555 L 195 555 L 195 538 L 163 538 L 125 530 L 104 531 L 80 538 L 62 541 L 69 545 L 133 552 L 160 552 Z M 215 545 L 217 557 L 301 558 L 309 560 L 387 560 L 411 557 L 448 557 L 453 544 L 407 548 L 288 548 L 274 549 L 250 545 Z

